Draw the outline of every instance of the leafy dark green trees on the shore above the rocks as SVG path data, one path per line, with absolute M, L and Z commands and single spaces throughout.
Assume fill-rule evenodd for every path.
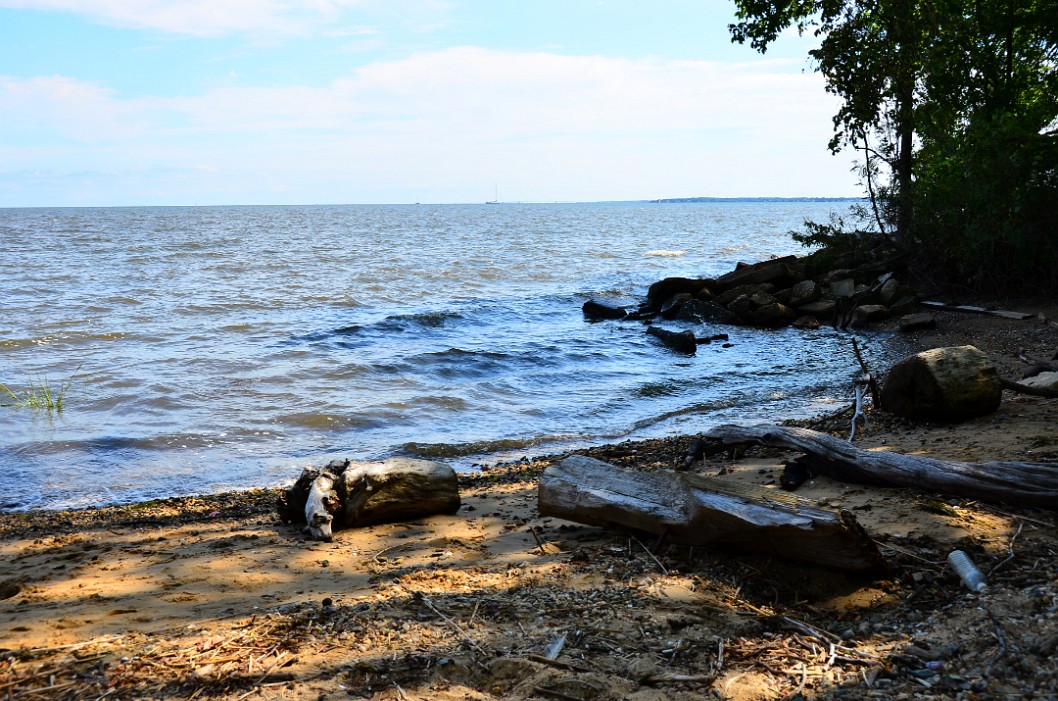
M 819 39 L 810 58 L 841 98 L 829 148 L 861 154 L 873 228 L 919 270 L 1058 291 L 1058 0 L 735 5 L 732 39 L 762 53 L 789 29 Z

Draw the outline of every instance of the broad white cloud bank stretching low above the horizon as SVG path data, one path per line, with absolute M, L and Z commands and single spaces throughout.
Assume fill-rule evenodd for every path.
M 181 97 L 0 77 L 0 170 L 208 172 L 227 202 L 270 182 L 310 202 L 473 201 L 496 180 L 510 199 L 850 193 L 836 105 L 787 69 L 463 47 Z

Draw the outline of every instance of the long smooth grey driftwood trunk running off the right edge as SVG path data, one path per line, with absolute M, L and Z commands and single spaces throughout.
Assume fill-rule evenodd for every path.
M 759 444 L 807 454 L 817 474 L 869 484 L 909 486 L 983 501 L 1058 509 L 1058 464 L 957 462 L 863 450 L 826 433 L 792 426 L 718 426 L 706 439 L 724 445 Z

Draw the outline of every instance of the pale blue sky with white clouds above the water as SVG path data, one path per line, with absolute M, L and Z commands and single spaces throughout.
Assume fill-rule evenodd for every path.
M 0 206 L 855 197 L 731 0 L 0 0 Z

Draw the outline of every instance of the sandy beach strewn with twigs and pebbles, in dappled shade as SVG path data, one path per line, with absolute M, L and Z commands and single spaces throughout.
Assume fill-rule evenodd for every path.
M 1058 351 L 1027 320 L 938 312 L 920 348 L 973 344 L 1003 376 Z M 896 331 L 893 331 L 896 333 Z M 880 370 L 880 369 L 876 369 Z M 777 420 L 781 420 L 778 417 Z M 847 430 L 847 418 L 824 422 Z M 582 451 L 671 468 L 693 437 Z M 1058 462 L 1058 400 L 1004 391 L 954 426 L 881 414 L 871 449 Z M 785 453 L 701 474 L 778 488 Z M 893 565 L 855 577 L 670 546 L 536 512 L 555 458 L 461 479 L 453 516 L 306 540 L 254 491 L 0 515 L 0 694 L 13 699 L 1055 698 L 1058 514 L 815 478 Z M 291 476 L 295 477 L 294 475 Z M 988 588 L 946 565 L 966 551 Z

